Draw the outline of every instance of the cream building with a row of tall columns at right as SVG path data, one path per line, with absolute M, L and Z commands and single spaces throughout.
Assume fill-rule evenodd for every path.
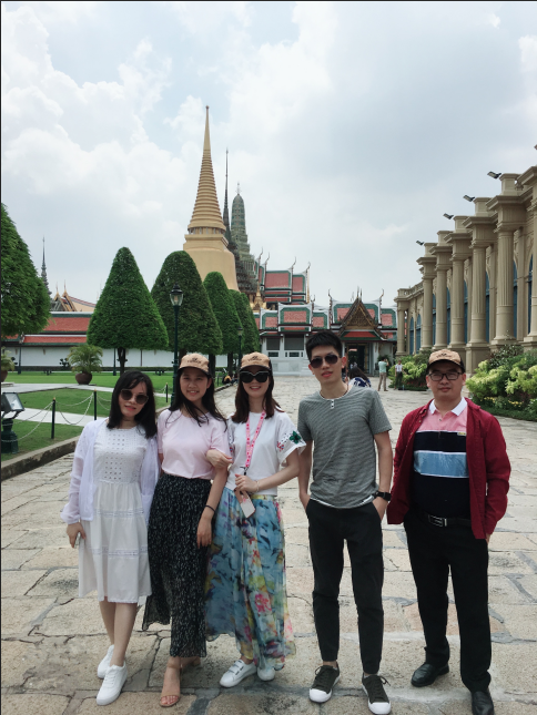
M 423 279 L 395 298 L 397 355 L 449 347 L 473 372 L 490 350 L 537 348 L 537 166 L 493 174 L 496 196 L 466 197 L 474 215 L 453 216 L 452 231 L 425 243 Z

